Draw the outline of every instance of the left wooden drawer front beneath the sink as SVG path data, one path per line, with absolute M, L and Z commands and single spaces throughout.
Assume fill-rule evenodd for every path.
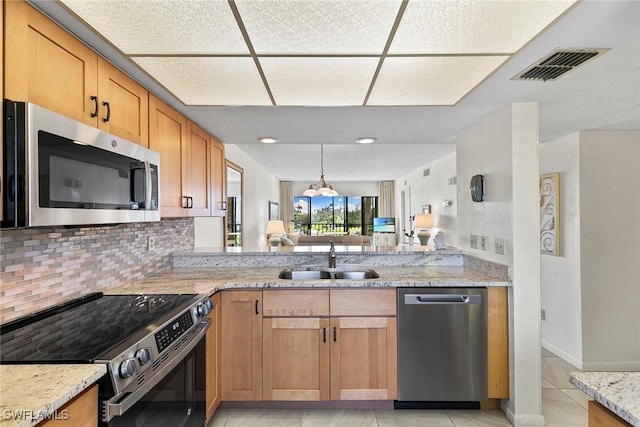
M 328 290 L 283 289 L 262 292 L 263 317 L 302 317 L 328 315 Z

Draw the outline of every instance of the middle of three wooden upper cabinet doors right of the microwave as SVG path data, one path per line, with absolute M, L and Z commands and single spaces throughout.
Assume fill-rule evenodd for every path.
M 190 197 L 189 216 L 211 215 L 209 174 L 211 164 L 211 137 L 194 123 L 189 122 L 187 145 L 187 176 Z

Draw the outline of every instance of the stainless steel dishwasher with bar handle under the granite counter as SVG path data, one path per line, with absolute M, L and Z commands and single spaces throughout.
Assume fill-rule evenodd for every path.
M 398 288 L 396 408 L 487 400 L 486 288 Z

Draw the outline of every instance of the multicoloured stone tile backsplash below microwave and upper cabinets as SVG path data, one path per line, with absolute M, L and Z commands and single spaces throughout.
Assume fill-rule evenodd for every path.
M 0 323 L 170 268 L 193 242 L 193 219 L 2 230 Z

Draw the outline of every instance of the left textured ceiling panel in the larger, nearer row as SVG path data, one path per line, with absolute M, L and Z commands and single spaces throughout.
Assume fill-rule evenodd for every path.
M 126 54 L 248 53 L 226 0 L 62 0 Z

